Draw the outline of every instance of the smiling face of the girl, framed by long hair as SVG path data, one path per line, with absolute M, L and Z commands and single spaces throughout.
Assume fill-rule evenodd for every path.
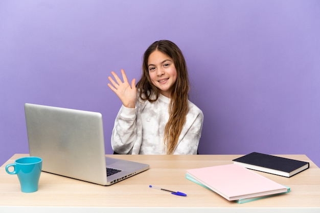
M 173 59 L 155 50 L 148 58 L 148 71 L 152 84 L 160 90 L 161 94 L 170 98 L 172 87 L 177 80 Z

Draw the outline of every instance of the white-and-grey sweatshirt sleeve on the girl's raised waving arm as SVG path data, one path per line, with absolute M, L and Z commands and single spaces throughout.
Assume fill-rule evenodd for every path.
M 120 108 L 111 135 L 111 147 L 119 154 L 130 154 L 136 140 L 136 107 Z

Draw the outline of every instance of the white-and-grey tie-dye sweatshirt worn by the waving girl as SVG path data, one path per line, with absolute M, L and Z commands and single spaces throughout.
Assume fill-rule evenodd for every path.
M 112 130 L 112 149 L 119 154 L 166 154 L 163 139 L 170 98 L 160 94 L 155 102 L 138 100 L 134 109 L 124 105 L 120 108 Z M 202 124 L 202 111 L 189 101 L 186 122 L 173 154 L 197 154 Z

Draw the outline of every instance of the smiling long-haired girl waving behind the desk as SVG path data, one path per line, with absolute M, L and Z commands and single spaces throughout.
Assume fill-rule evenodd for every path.
M 112 130 L 112 149 L 120 154 L 197 154 L 203 114 L 188 100 L 189 80 L 181 50 L 156 41 L 144 54 L 143 73 L 135 86 L 124 70 L 109 88 L 123 105 Z

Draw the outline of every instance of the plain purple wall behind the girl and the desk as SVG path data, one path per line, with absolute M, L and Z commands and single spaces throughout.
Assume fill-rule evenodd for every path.
M 156 40 L 184 52 L 200 154 L 306 154 L 320 165 L 320 1 L 0 1 L 0 165 L 28 153 L 24 103 L 96 111 L 106 153 L 121 106 L 111 70 L 140 78 Z

